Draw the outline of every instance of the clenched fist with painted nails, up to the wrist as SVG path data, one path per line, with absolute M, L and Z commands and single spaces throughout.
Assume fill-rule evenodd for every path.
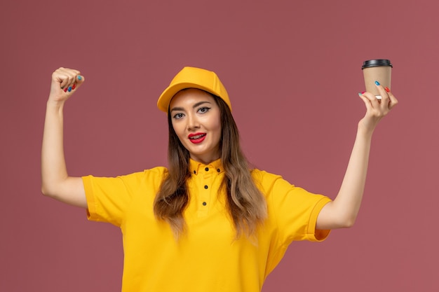
M 75 69 L 60 67 L 52 74 L 49 102 L 65 102 L 85 81 L 81 72 Z

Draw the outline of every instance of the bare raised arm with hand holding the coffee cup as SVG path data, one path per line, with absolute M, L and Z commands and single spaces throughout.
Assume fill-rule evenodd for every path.
M 333 202 L 323 207 L 318 215 L 316 228 L 320 230 L 349 228 L 356 221 L 365 188 L 372 134 L 379 120 L 398 104 L 393 94 L 377 85 L 381 101 L 369 92 L 360 94 L 366 106 L 366 114 L 358 123 L 356 140 L 344 174 L 342 186 Z

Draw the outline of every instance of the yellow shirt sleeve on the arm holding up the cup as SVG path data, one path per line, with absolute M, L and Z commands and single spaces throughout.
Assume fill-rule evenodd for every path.
M 274 174 L 264 173 L 264 189 L 269 216 L 274 217 L 278 240 L 288 245 L 295 240 L 320 242 L 330 230 L 316 230 L 320 210 L 330 202 L 329 197 L 309 193 Z

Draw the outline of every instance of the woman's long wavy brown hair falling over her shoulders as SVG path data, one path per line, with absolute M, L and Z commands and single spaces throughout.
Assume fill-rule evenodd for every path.
M 243 234 L 251 237 L 266 218 L 265 198 L 252 179 L 250 165 L 241 150 L 238 127 L 229 106 L 221 98 L 212 96 L 219 106 L 221 116 L 222 139 L 219 148 L 225 174 L 221 188 L 227 194 L 227 207 L 236 229 L 236 237 Z M 163 179 L 154 200 L 154 214 L 156 218 L 168 222 L 178 238 L 185 230 L 183 212 L 189 202 L 186 183 L 191 176 L 189 151 L 178 139 L 169 112 L 168 129 L 168 175 Z

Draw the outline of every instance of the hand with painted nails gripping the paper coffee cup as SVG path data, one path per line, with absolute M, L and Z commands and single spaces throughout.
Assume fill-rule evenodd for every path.
M 377 88 L 381 99 L 377 99 L 377 97 L 370 92 L 359 94 L 366 105 L 366 114 L 358 123 L 358 130 L 362 129 L 372 133 L 375 127 L 377 127 L 379 120 L 384 118 L 384 116 L 398 104 L 398 99 L 396 99 L 389 88 L 383 88 L 382 85 L 377 85 Z

